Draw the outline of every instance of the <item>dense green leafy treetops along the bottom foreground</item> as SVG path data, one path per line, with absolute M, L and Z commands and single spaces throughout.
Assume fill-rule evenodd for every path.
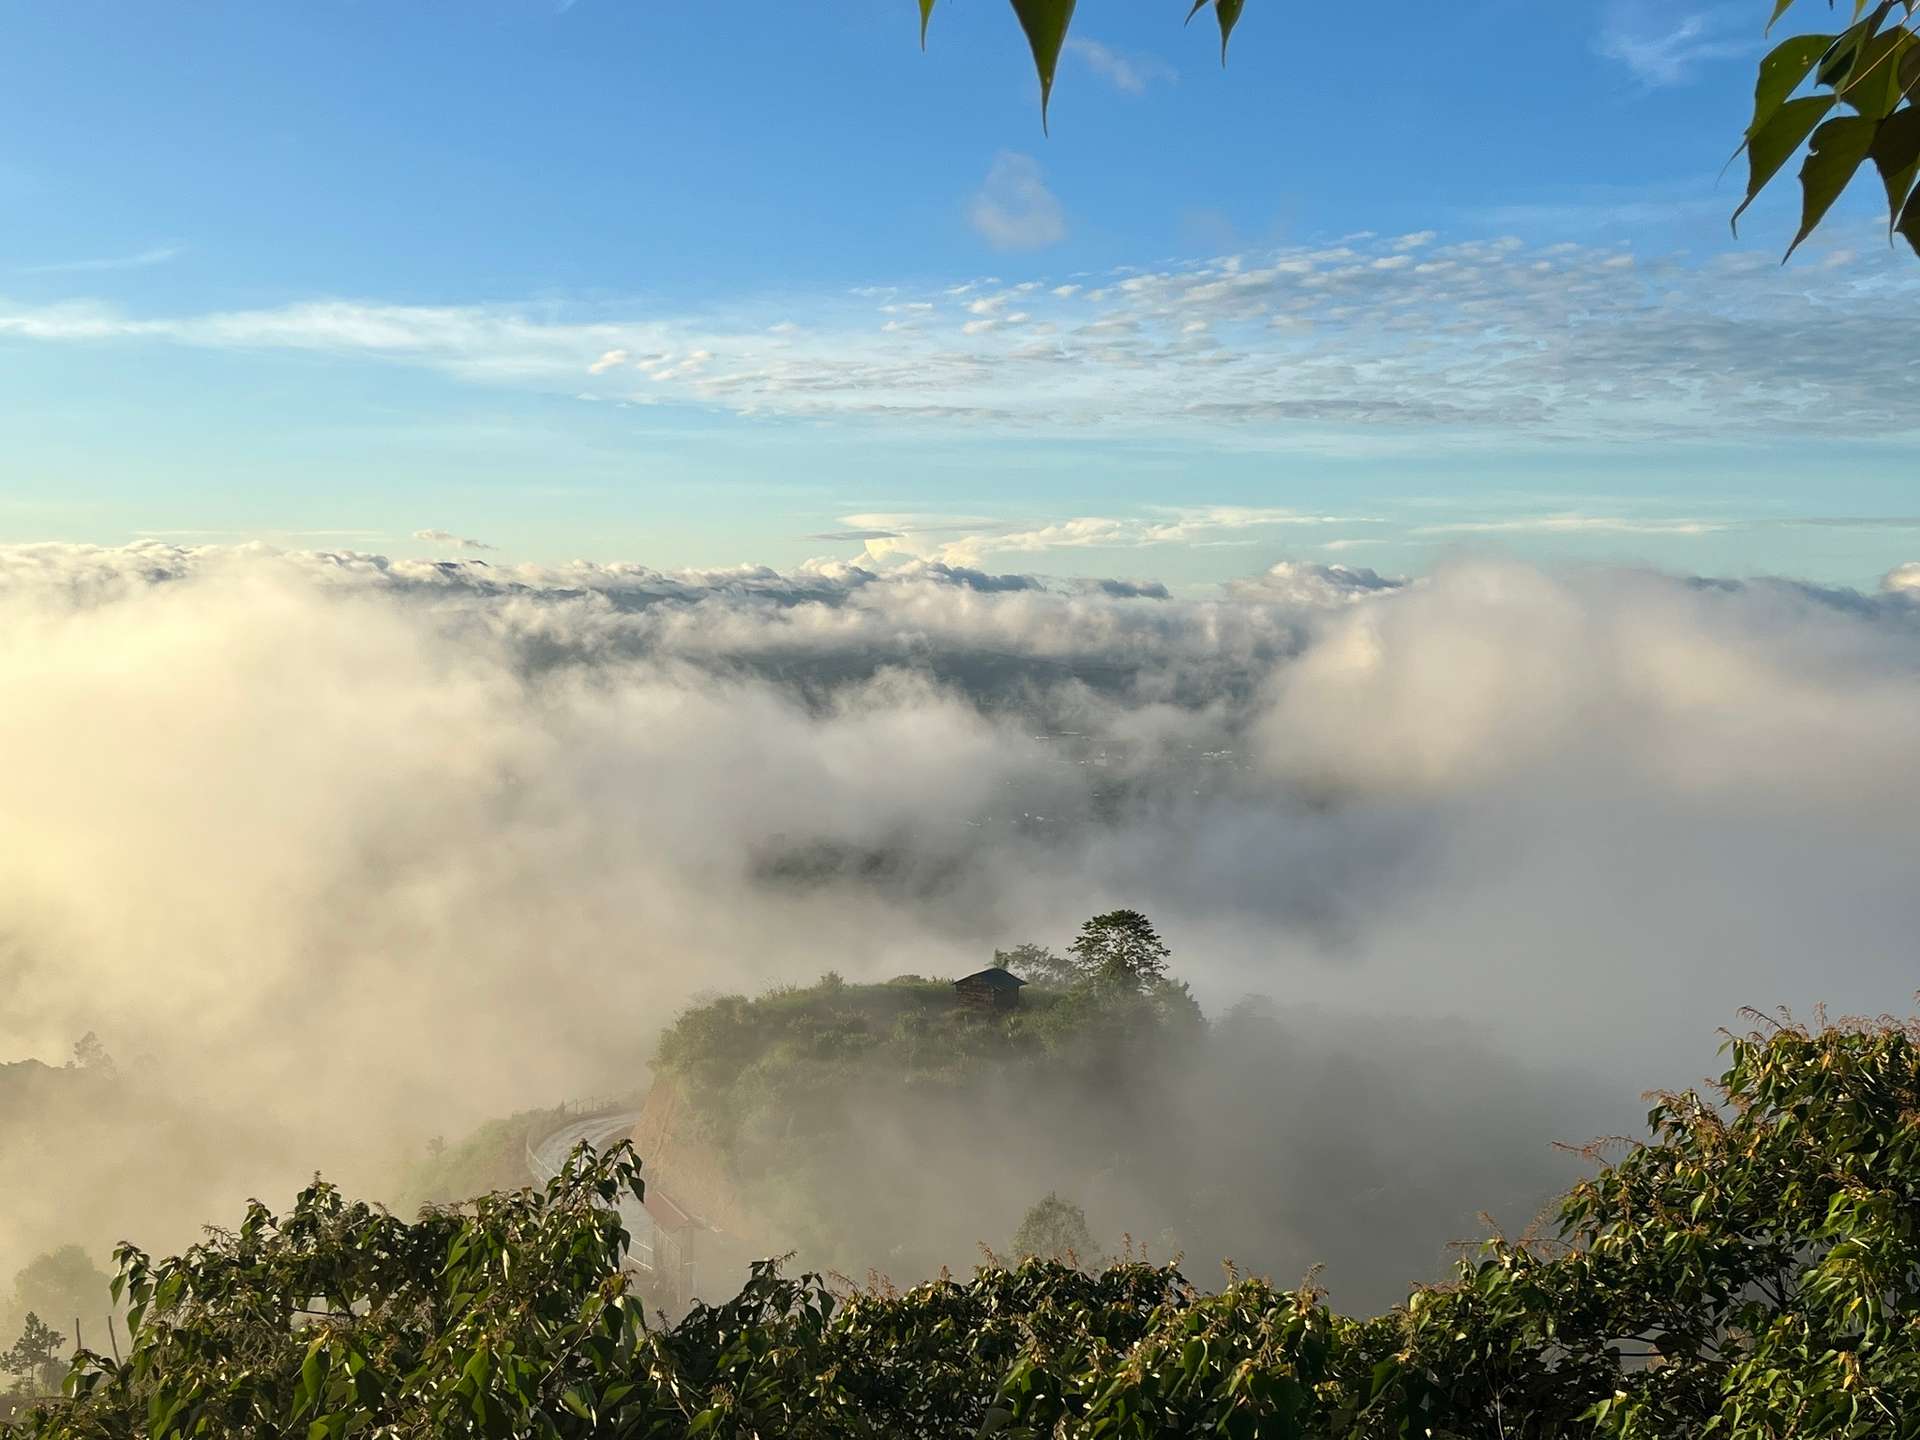
M 1375 1319 L 1146 1263 L 843 1298 L 768 1261 L 653 1327 L 624 1150 L 411 1225 L 317 1183 L 177 1260 L 123 1250 L 129 1356 L 83 1354 L 21 1434 L 1920 1434 L 1914 1029 L 1730 1041 L 1718 1092 L 1649 1127 L 1555 1242 L 1494 1240 Z

